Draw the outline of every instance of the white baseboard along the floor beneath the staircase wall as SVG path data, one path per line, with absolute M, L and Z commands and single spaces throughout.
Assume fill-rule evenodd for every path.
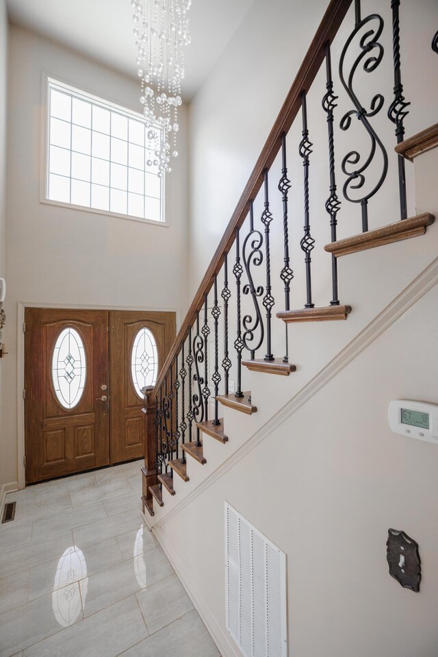
M 170 561 L 175 573 L 177 573 L 181 584 L 183 584 L 185 591 L 187 591 L 188 596 L 194 604 L 194 608 L 201 616 L 201 619 L 211 634 L 211 637 L 216 643 L 218 650 L 222 657 L 242 657 L 240 649 L 235 645 L 233 639 L 227 630 L 224 630 L 218 623 L 218 620 L 214 617 L 211 609 L 207 606 L 205 599 L 201 591 L 199 591 L 198 586 L 192 580 L 192 577 L 188 570 L 185 568 L 178 555 L 176 554 L 172 543 L 167 540 L 166 535 L 163 530 L 157 525 L 152 528 L 152 533 L 157 538 L 157 541 L 162 546 L 168 560 Z M 224 601 L 225 607 L 225 601 Z

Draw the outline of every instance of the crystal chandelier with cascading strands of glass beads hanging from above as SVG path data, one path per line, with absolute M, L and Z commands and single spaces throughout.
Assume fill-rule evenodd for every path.
M 183 49 L 190 43 L 188 10 L 192 0 L 131 0 L 138 51 L 140 103 L 158 175 L 170 173 L 170 153 L 177 158 L 178 108 L 184 77 Z M 170 146 L 172 142 L 172 147 Z

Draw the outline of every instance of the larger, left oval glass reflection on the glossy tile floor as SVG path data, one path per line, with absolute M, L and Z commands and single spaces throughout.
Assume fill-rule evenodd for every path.
M 75 623 L 81 614 L 79 580 L 82 580 L 82 602 L 85 606 L 88 586 L 87 564 L 83 551 L 73 545 L 62 554 L 53 584 L 53 613 L 63 628 L 68 628 L 68 625 Z

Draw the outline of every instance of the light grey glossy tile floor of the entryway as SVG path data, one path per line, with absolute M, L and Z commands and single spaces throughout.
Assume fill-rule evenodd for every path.
M 140 514 L 141 462 L 10 493 L 0 657 L 219 657 Z

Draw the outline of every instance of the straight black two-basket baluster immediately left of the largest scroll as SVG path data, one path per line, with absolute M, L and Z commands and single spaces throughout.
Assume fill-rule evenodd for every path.
M 341 207 L 336 193 L 335 174 L 335 136 L 333 132 L 333 110 L 337 107 L 337 96 L 333 93 L 333 79 L 331 76 L 331 53 L 330 42 L 326 43 L 326 95 L 322 99 L 322 108 L 327 114 L 327 127 L 329 129 L 329 171 L 330 171 L 330 196 L 326 200 L 326 211 L 330 214 L 331 240 L 336 241 L 337 213 Z M 331 306 L 339 306 L 339 295 L 337 288 L 337 258 L 331 256 L 331 281 L 333 299 Z

